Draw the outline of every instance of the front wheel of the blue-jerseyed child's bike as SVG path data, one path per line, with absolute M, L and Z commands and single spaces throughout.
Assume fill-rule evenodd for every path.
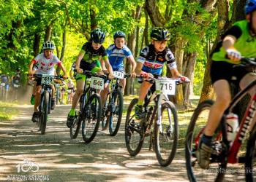
M 109 118 L 109 133 L 110 136 L 115 136 L 116 133 L 119 130 L 120 124 L 121 124 L 121 118 L 123 115 L 123 108 L 124 108 L 124 98 L 121 90 L 115 90 L 112 95 L 112 99 L 114 100 L 113 105 L 111 107 L 111 112 L 110 112 L 110 118 Z M 115 106 L 117 103 L 118 106 Z M 117 119 L 113 119 L 117 115 Z M 116 122 L 114 122 L 116 121 Z

